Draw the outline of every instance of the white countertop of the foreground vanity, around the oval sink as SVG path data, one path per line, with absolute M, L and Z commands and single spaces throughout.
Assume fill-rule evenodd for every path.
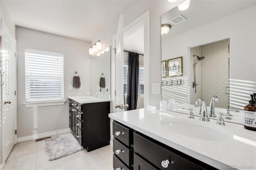
M 210 122 L 202 122 L 198 116 L 189 119 L 187 114 L 172 111 L 160 112 L 159 109 L 156 109 L 155 113 L 147 111 L 146 108 L 130 110 L 112 113 L 109 114 L 109 117 L 215 168 L 230 170 L 230 166 L 233 166 L 234 169 L 256 169 L 256 132 L 246 130 L 242 124 L 225 122 L 225 126 L 220 126 L 216 124 L 217 120 L 211 119 Z M 196 124 L 216 127 L 218 130 L 228 132 L 234 139 L 227 141 L 200 140 L 172 132 L 160 124 L 160 121 L 173 118 L 182 118 Z

